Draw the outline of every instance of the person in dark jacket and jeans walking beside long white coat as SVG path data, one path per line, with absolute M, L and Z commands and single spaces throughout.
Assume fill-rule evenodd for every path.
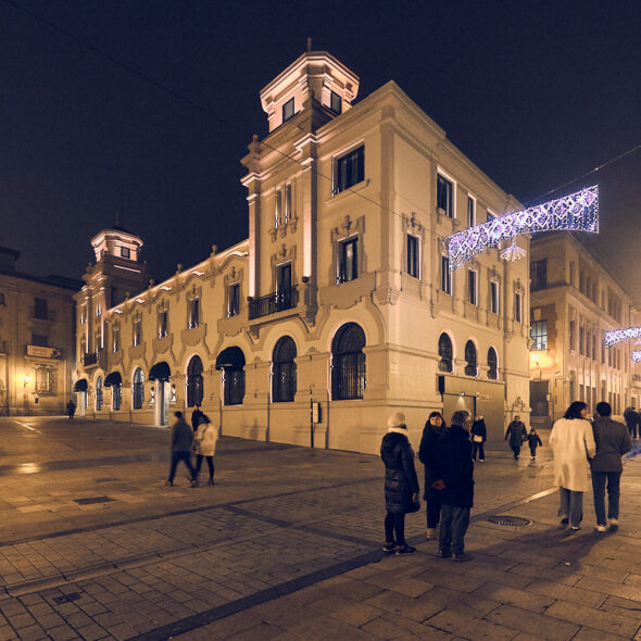
M 623 423 L 612 419 L 609 403 L 596 403 L 598 417 L 592 422 L 596 455 L 590 460 L 592 491 L 598 532 L 605 531 L 605 482 L 607 481 L 607 518 L 612 530 L 618 529 L 619 483 L 624 466 L 621 456 L 632 449 L 630 433 Z

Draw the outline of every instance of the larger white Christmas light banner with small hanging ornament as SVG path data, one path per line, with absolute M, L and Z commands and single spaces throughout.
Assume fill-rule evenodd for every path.
M 475 225 L 447 238 L 450 269 L 456 269 L 465 261 L 495 247 L 503 240 L 515 239 L 520 234 L 541 231 L 589 231 L 599 234 L 599 186 L 550 200 L 533 208 L 493 218 Z M 523 252 L 523 253 L 521 253 Z M 503 255 L 505 254 L 505 255 Z M 503 251 L 505 260 L 517 260 L 525 250 L 515 243 Z

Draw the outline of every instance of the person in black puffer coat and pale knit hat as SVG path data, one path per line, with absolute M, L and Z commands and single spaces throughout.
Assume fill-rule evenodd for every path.
M 412 554 L 415 548 L 405 542 L 405 514 L 415 512 L 418 503 L 418 478 L 414 467 L 414 451 L 407 439 L 405 415 L 397 412 L 387 422 L 388 433 L 382 438 L 380 457 L 385 463 L 385 545 L 384 552 Z M 394 531 L 397 539 L 394 542 Z

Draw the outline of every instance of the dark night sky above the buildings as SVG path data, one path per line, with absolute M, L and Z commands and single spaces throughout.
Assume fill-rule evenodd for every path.
M 77 278 L 120 210 L 161 280 L 246 238 L 259 91 L 307 37 L 525 203 L 641 143 L 639 0 L 0 0 L 0 244 Z M 641 150 L 549 198 L 594 181 L 595 247 L 641 300 Z

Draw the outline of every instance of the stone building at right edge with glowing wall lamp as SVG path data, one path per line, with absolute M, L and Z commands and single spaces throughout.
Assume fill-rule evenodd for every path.
M 614 414 L 633 403 L 641 389 L 631 363 L 633 341 L 609 349 L 604 334 L 634 325 L 626 291 L 570 232 L 530 242 L 531 420 L 550 425 L 573 401 L 591 411 L 606 401 Z

